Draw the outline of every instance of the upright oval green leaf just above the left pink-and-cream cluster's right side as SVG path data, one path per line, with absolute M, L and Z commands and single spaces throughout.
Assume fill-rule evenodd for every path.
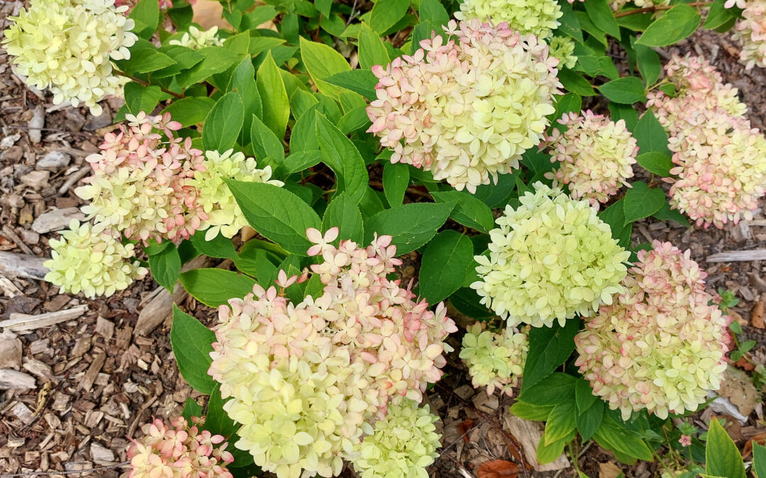
M 215 102 L 215 105 L 205 118 L 205 128 L 202 128 L 202 145 L 205 151 L 223 153 L 237 143 L 237 136 L 242 131 L 244 121 L 244 106 L 239 93 L 226 93 Z

